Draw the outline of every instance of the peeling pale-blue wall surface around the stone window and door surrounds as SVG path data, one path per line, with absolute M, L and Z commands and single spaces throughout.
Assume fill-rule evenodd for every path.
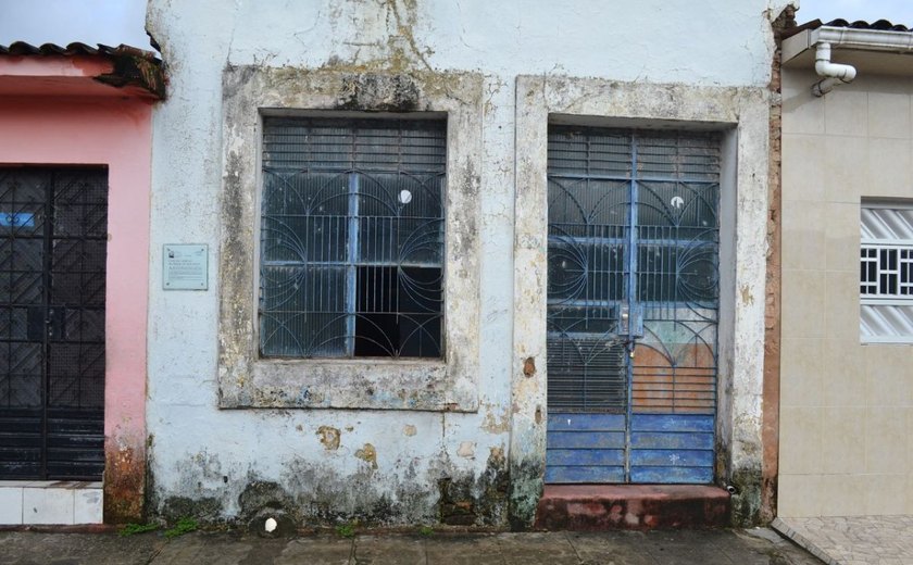
M 243 513 L 239 500 L 252 501 L 249 512 L 270 497 L 287 495 L 304 517 L 423 523 L 437 518 L 438 481 L 450 477 L 454 500 L 466 498 L 461 488 L 493 492 L 484 498 L 493 501 L 492 507 L 476 510 L 503 522 L 498 480 L 506 468 L 511 384 L 518 366 L 513 330 L 516 76 L 596 76 L 631 88 L 681 83 L 763 89 L 773 52 L 770 20 L 785 3 L 150 0 L 148 28 L 161 45 L 170 77 L 170 98 L 154 115 L 147 411 L 152 510 L 190 512 L 187 503 L 193 500 L 196 514 L 209 510 L 210 517 L 232 518 Z M 233 228 L 220 223 L 227 65 L 484 76 L 484 146 L 476 167 L 483 246 L 477 413 L 218 410 L 220 273 L 214 267 L 221 230 Z M 734 101 L 734 108 L 740 103 Z M 741 108 L 755 114 L 766 109 L 763 96 Z M 758 146 L 763 143 L 748 143 Z M 749 241 L 762 241 L 766 188 L 748 201 L 754 219 L 747 229 L 759 230 Z M 185 242 L 210 246 L 210 289 L 164 292 L 162 244 Z M 760 441 L 763 262 L 743 276 L 756 291 L 756 307 L 740 318 L 751 329 L 735 347 L 747 368 L 735 386 L 741 395 L 734 403 L 740 412 L 734 422 L 745 424 L 739 442 L 751 448 Z M 322 427 L 338 430 L 338 449 L 321 442 Z M 739 456 L 743 452 L 750 456 L 751 449 L 739 448 Z M 760 451 L 756 456 L 760 468 Z M 263 482 L 277 482 L 286 492 L 270 492 Z M 246 489 L 261 498 L 239 499 Z

